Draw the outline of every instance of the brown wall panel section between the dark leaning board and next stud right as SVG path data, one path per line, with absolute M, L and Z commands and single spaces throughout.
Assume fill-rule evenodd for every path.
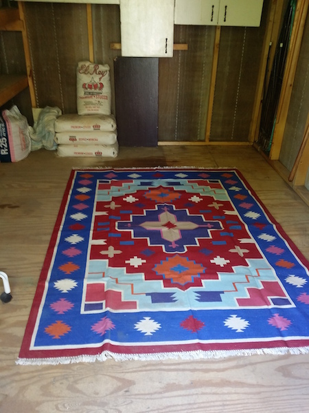
M 205 125 L 216 28 L 175 25 L 175 51 L 159 59 L 159 144 L 205 142 Z

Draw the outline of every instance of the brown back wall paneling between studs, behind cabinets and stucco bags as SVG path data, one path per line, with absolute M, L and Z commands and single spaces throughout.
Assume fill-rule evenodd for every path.
M 222 28 L 210 142 L 248 141 L 268 4 L 260 28 Z M 25 14 L 37 106 L 76 112 L 76 65 L 89 59 L 87 5 L 26 2 Z M 119 6 L 92 5 L 92 24 L 94 59 L 111 67 L 114 92 L 121 51 L 109 45 L 121 42 Z M 159 59 L 159 142 L 205 142 L 215 36 L 215 26 L 174 26 L 174 43 L 188 50 Z

